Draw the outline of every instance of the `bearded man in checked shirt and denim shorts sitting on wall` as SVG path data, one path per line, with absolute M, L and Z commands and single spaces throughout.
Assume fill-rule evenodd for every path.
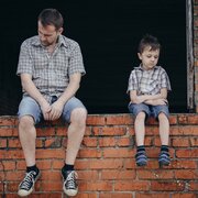
M 69 123 L 63 189 L 68 196 L 78 191 L 75 160 L 86 129 L 87 110 L 75 97 L 85 75 L 79 45 L 62 35 L 63 16 L 55 9 L 43 10 L 37 19 L 38 35 L 21 45 L 16 74 L 21 77 L 23 99 L 19 106 L 19 136 L 26 163 L 26 174 L 18 195 L 30 195 L 41 176 L 35 162 L 35 124 L 63 118 Z

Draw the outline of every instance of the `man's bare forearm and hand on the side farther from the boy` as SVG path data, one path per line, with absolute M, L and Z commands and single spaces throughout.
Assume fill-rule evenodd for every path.
M 51 106 L 35 87 L 32 76 L 30 74 L 21 74 L 21 84 L 23 89 L 41 106 L 44 119 L 50 120 Z

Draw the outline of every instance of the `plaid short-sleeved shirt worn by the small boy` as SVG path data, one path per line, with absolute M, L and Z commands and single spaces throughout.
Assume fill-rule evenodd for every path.
M 155 66 L 153 69 L 144 70 L 141 66 L 131 72 L 128 92 L 138 90 L 138 95 L 157 95 L 162 88 L 172 90 L 169 78 L 164 68 Z

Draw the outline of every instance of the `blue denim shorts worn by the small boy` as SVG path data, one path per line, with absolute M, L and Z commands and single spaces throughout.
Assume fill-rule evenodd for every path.
M 129 103 L 129 111 L 134 117 L 136 117 L 140 112 L 145 112 L 146 117 L 158 118 L 158 114 L 163 112 L 167 118 L 169 117 L 169 110 L 167 105 L 163 106 L 150 106 L 146 103 Z

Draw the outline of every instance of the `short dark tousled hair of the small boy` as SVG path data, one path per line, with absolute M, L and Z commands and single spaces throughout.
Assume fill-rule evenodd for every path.
M 151 46 L 150 51 L 156 51 L 156 50 L 161 50 L 161 44 L 158 42 L 158 40 L 150 34 L 146 34 L 139 44 L 139 53 L 142 54 L 143 51 L 145 50 L 145 47 Z

